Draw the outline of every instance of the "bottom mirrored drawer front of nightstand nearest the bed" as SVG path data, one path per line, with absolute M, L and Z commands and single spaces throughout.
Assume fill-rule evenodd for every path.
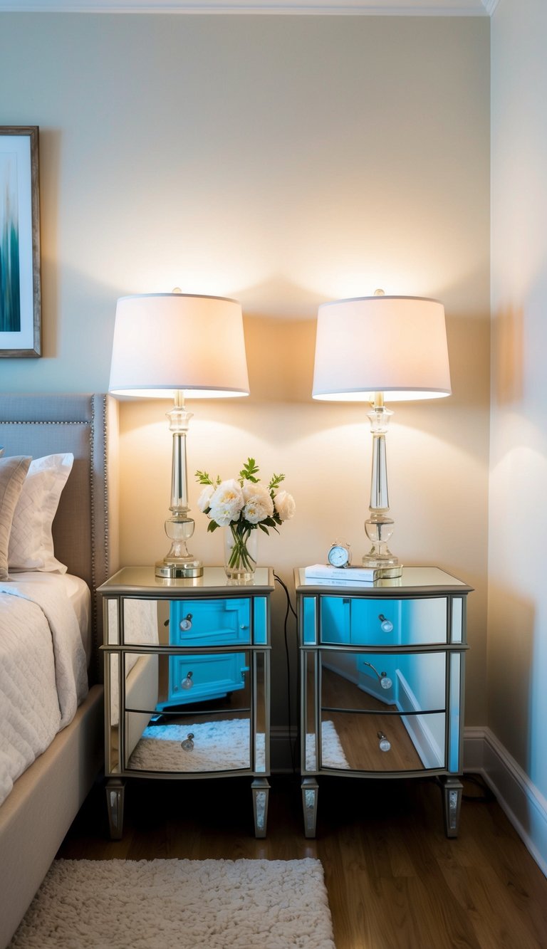
M 209 773 L 251 768 L 250 714 L 146 716 L 127 712 L 127 771 Z

